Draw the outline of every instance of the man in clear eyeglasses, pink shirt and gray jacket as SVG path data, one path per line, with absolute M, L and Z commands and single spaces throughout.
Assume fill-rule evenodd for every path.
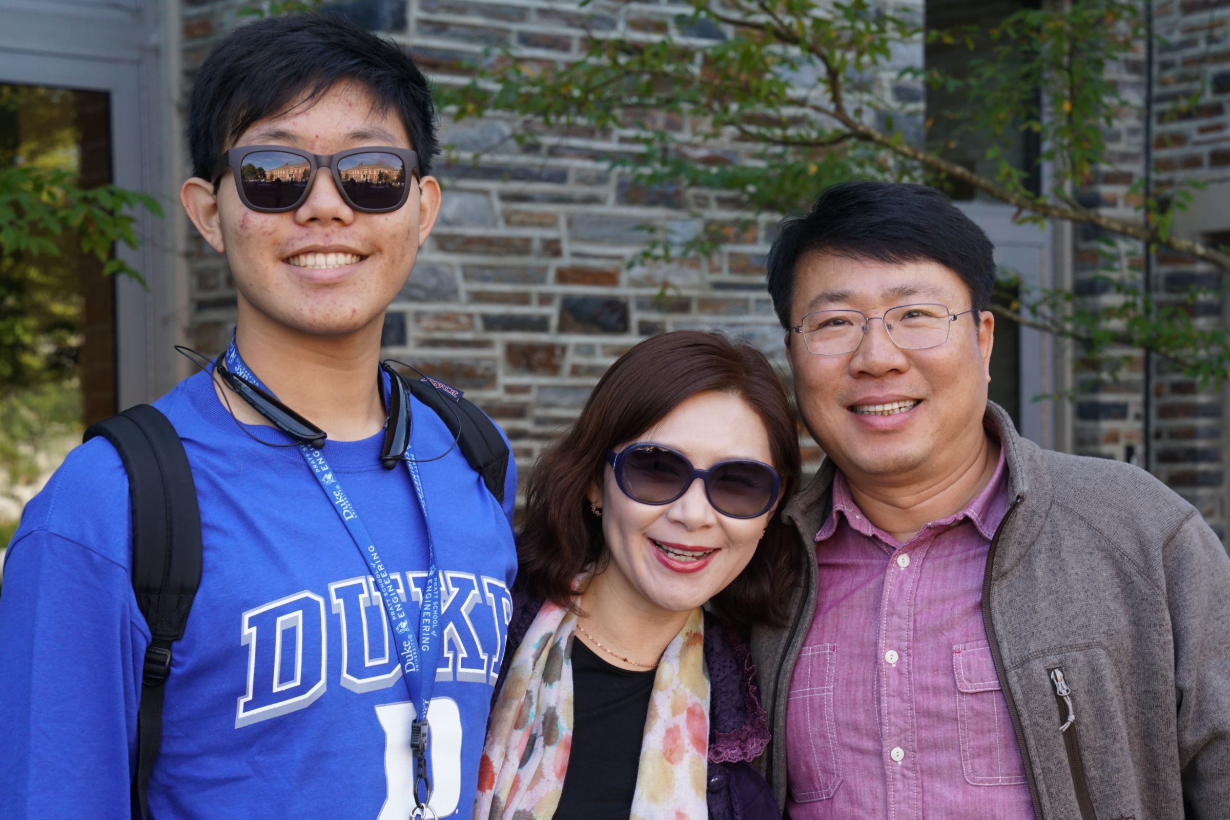
M 756 628 L 792 820 L 1230 816 L 1230 559 L 1129 464 L 986 399 L 991 243 L 941 193 L 852 182 L 769 255 L 827 454 L 785 508 L 807 574 Z

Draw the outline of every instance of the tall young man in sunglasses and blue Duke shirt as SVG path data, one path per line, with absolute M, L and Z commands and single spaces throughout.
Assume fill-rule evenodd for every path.
M 336 18 L 262 21 L 202 65 L 189 134 L 183 207 L 225 254 L 239 318 L 155 405 L 191 465 L 202 576 L 164 656 L 148 816 L 469 816 L 517 479 L 471 467 L 449 420 L 490 422 L 459 392 L 380 366 L 385 309 L 439 212 L 427 82 Z M 6 819 L 146 815 L 130 784 L 157 659 L 128 488 L 112 444 L 89 441 L 9 550 Z

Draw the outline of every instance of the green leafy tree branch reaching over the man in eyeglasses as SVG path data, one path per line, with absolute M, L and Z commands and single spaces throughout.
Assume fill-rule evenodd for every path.
M 1197 302 L 1218 294 L 1192 292 L 1160 304 L 1130 262 L 1139 250 L 1119 247 L 1144 243 L 1230 268 L 1226 249 L 1172 230 L 1199 185 L 1180 182 L 1146 198 L 1138 179 L 1128 191 L 1130 217 L 1079 196 L 1113 165 L 1106 129 L 1139 113 L 1114 76 L 1146 46 L 1139 4 L 1064 5 L 1018 11 L 989 31 L 927 31 L 916 17 L 867 0 L 689 0 L 670 21 L 589 32 L 578 58 L 530 59 L 507 47 L 488 53 L 472 65 L 471 80 L 442 84 L 438 100 L 456 119 L 506 115 L 539 131 L 617 133 L 631 150 L 610 163 L 633 181 L 723 192 L 753 215 L 797 211 L 833 182 L 881 179 L 963 183 L 1016 208 L 1018 222 L 1092 225 L 1113 246 L 1103 255 L 1106 293 L 1092 300 L 1064 291 L 1021 293 L 1001 299 L 996 313 L 1080 342 L 1111 371 L 1129 347 L 1157 352 L 1205 383 L 1224 378 L 1224 331 L 1200 329 L 1192 318 Z M 625 14 L 630 23 L 642 14 L 624 4 L 590 7 Z M 962 76 L 894 68 L 902 47 L 924 42 L 978 47 L 979 57 Z M 889 98 L 883 90 L 891 81 L 958 95 L 962 105 L 942 115 L 952 128 L 936 129 L 921 103 Z M 942 140 L 931 135 L 940 131 L 948 134 Z M 1031 182 L 1037 167 L 1011 159 L 1023 134 L 1041 145 L 1046 187 Z M 984 159 L 995 171 L 954 160 L 962 140 L 988 144 Z M 681 243 L 651 231 L 646 257 L 705 255 L 722 241 L 720 230 Z

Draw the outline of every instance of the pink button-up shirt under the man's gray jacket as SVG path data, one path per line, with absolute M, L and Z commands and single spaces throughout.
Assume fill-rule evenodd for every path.
M 1033 818 L 982 613 L 1007 504 L 1001 449 L 969 506 L 900 544 L 836 474 L 786 707 L 792 820 Z

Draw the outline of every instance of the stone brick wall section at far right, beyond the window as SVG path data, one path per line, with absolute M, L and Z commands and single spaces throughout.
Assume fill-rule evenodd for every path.
M 1184 179 L 1220 183 L 1230 179 L 1230 2 L 1225 0 L 1173 0 L 1156 4 L 1154 85 L 1154 185 L 1165 196 Z M 1144 82 L 1144 59 L 1122 66 L 1124 87 L 1139 95 Z M 1117 166 L 1103 169 L 1097 185 L 1086 191 L 1103 207 L 1130 214 L 1128 186 L 1143 170 L 1143 119 L 1127 117 L 1111 131 Z M 1230 230 L 1230 214 L 1221 230 Z M 1077 231 L 1080 235 L 1081 231 Z M 1075 251 L 1076 287 L 1096 291 L 1082 276 L 1092 231 L 1084 231 L 1085 244 Z M 1204 239 L 1209 239 L 1208 235 Z M 1221 239 L 1225 241 L 1225 239 Z M 1139 247 L 1132 249 L 1139 263 Z M 1156 255 L 1154 292 L 1160 303 L 1184 302 L 1193 287 L 1224 287 L 1223 277 L 1205 263 L 1168 251 Z M 1198 326 L 1225 326 L 1223 299 L 1202 298 L 1189 308 Z M 1079 368 L 1079 363 L 1077 363 Z M 1098 384 L 1075 408 L 1076 452 L 1124 458 L 1130 446 L 1140 449 L 1144 361 L 1133 356 L 1124 378 L 1114 384 L 1098 383 L 1090 374 L 1077 374 L 1077 383 Z M 1226 437 L 1225 390 L 1209 389 L 1177 373 L 1165 362 L 1154 362 L 1153 473 L 1189 500 L 1218 533 L 1228 528 L 1228 485 L 1225 481 Z

